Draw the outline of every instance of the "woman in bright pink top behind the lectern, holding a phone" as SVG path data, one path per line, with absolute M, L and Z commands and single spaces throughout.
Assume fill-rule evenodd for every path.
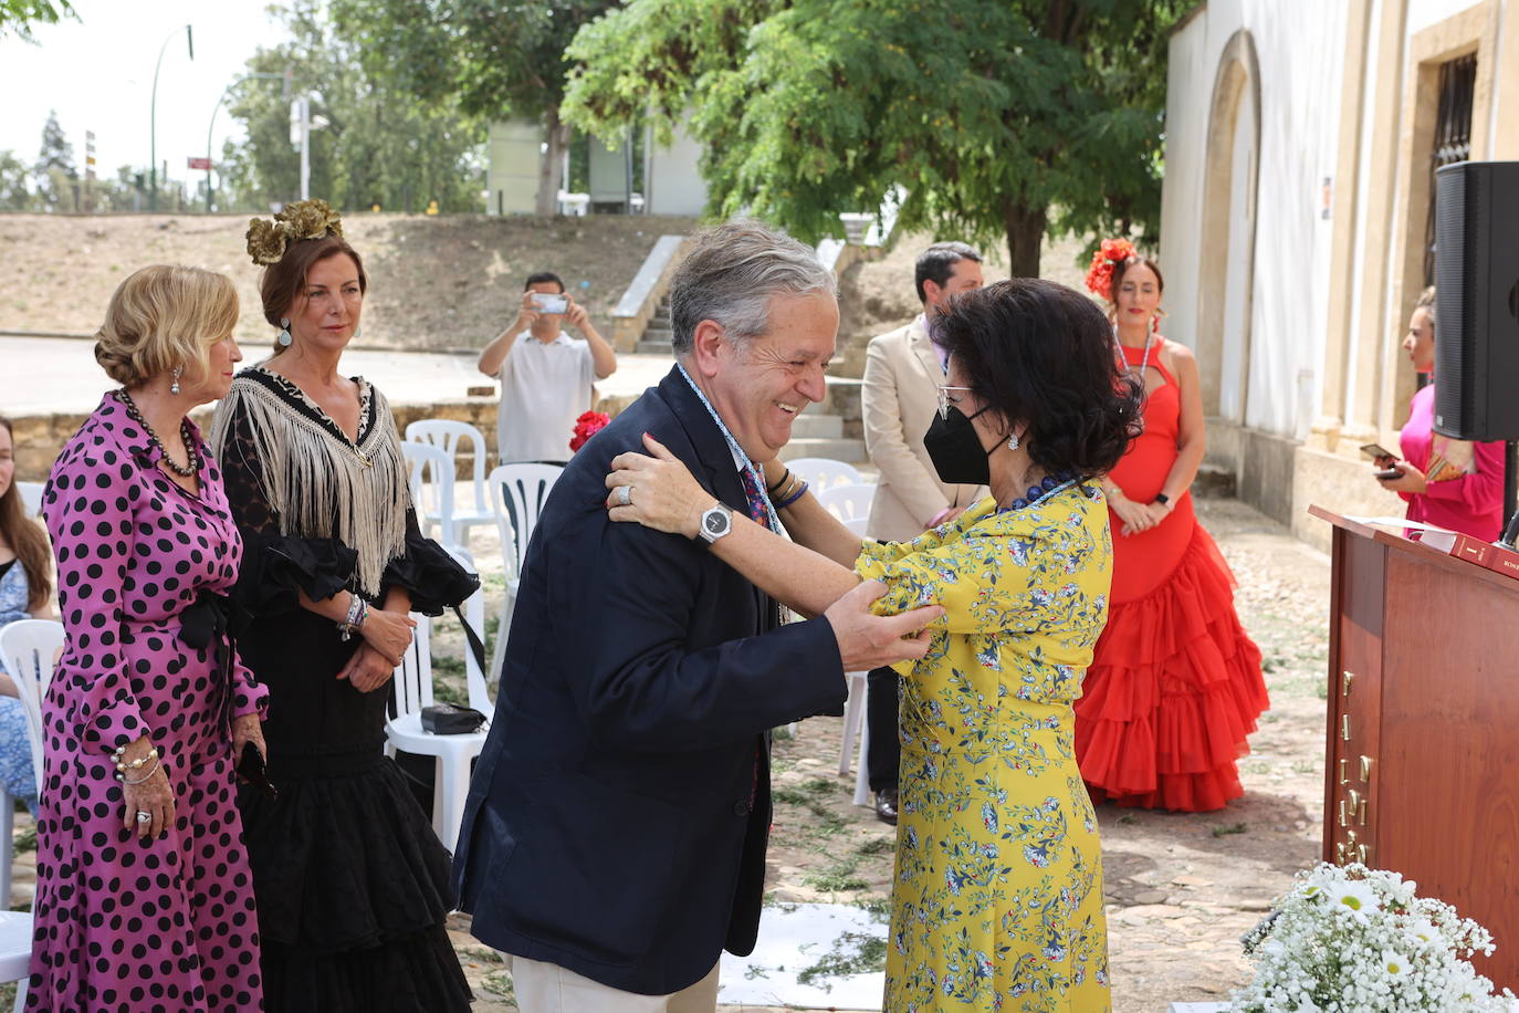
M 1408 317 L 1404 351 L 1422 374 L 1434 372 L 1434 289 L 1419 295 Z M 1378 478 L 1408 503 L 1408 519 L 1496 541 L 1504 527 L 1502 440 L 1473 443 L 1434 431 L 1434 384 L 1414 393 L 1408 422 L 1397 437 L 1404 460 L 1381 459 L 1378 468 L 1396 478 Z

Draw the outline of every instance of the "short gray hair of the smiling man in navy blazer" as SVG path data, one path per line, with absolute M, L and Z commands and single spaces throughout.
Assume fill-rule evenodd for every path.
M 753 219 L 706 229 L 670 282 L 674 354 L 691 351 L 702 320 L 722 323 L 735 343 L 760 337 L 770 330 L 773 296 L 807 292 L 838 295 L 834 272 L 811 248 Z

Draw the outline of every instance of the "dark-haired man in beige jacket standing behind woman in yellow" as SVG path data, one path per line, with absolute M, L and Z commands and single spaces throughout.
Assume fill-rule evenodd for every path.
M 924 433 L 939 409 L 939 384 L 948 369 L 943 349 L 930 337 L 933 320 L 949 296 L 981 286 L 981 255 L 965 243 L 934 243 L 919 255 L 913 273 L 924 311 L 911 323 L 870 339 L 861 384 L 864 445 L 881 472 L 867 532 L 887 541 L 916 538 L 986 495 L 984 486 L 939 481 L 924 450 Z M 876 668 L 869 686 L 867 767 L 875 814 L 896 823 L 896 673 Z

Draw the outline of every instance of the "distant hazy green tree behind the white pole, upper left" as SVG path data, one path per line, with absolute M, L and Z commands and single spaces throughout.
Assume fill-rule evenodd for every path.
M 354 49 L 339 38 L 316 0 L 284 9 L 290 41 L 260 50 L 248 70 L 283 74 L 292 93 L 311 96 L 311 194 L 340 208 L 475 211 L 483 187 L 483 128 L 454 100 L 418 102 L 372 80 Z M 279 82 L 240 82 L 229 99 L 248 138 L 222 152 L 223 205 L 266 210 L 299 194 L 299 153 L 290 144 L 290 94 Z

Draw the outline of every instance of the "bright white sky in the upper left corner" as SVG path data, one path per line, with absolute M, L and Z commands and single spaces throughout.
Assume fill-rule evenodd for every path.
M 158 161 L 167 159 L 176 179 L 204 178 L 187 175 L 185 158 L 205 156 L 222 90 L 260 47 L 286 38 L 284 26 L 266 12 L 269 0 L 73 0 L 73 6 L 77 21 L 33 26 L 35 43 L 0 38 L 0 150 L 35 161 L 49 109 L 56 109 L 81 175 L 85 131 L 96 135 L 99 176 L 115 176 L 123 164 L 147 166 L 153 64 L 169 39 L 158 74 Z M 185 24 L 194 29 L 193 62 Z M 223 106 L 214 155 L 228 137 L 242 131 Z

